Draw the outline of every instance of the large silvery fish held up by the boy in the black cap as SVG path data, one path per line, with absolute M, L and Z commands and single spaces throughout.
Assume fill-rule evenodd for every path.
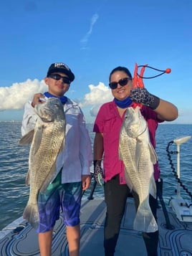
M 19 145 L 28 145 L 29 170 L 26 185 L 30 185 L 29 200 L 23 217 L 34 229 L 39 226 L 38 194 L 44 193 L 56 174 L 56 160 L 60 151 L 64 150 L 65 115 L 63 105 L 58 98 L 49 98 L 34 107 L 37 122 L 19 140 Z

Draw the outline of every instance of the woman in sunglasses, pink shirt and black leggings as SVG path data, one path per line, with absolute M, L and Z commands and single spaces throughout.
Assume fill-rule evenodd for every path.
M 178 117 L 178 109 L 172 103 L 151 95 L 145 88 L 133 89 L 132 75 L 126 67 L 116 67 L 112 70 L 109 86 L 114 100 L 101 106 L 93 128 L 95 180 L 98 183 L 102 176 L 101 161 L 104 159 L 104 192 L 107 206 L 104 230 L 105 256 L 112 256 L 115 253 L 126 200 L 130 194 L 125 182 L 124 165 L 118 156 L 120 128 L 126 109 L 133 105 L 133 102 L 143 104 L 140 111 L 148 123 L 150 141 L 154 148 L 158 123 L 175 120 Z M 154 176 L 155 180 L 160 176 L 158 164 L 154 166 Z M 136 195 L 134 199 L 135 206 L 138 207 Z M 153 196 L 150 196 L 150 207 L 156 219 L 157 201 Z M 158 231 L 143 232 L 143 239 L 148 255 L 157 255 Z

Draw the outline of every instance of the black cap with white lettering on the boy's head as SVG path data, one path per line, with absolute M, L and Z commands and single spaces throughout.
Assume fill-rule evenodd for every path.
M 69 77 L 69 80 L 71 82 L 75 80 L 75 75 L 73 74 L 72 70 L 70 70 L 69 67 L 62 62 L 52 63 L 52 65 L 49 67 L 49 70 L 47 71 L 47 77 L 54 72 L 64 73 L 65 75 L 67 75 L 67 77 Z

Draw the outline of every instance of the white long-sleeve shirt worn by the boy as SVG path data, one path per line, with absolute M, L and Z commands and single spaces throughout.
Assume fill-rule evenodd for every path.
M 64 115 L 66 120 L 64 149 L 59 152 L 56 161 L 56 175 L 62 169 L 62 184 L 81 181 L 82 174 L 90 174 L 92 163 L 91 141 L 82 110 L 77 103 L 68 98 L 67 103 L 64 104 Z M 29 101 L 24 108 L 22 136 L 34 128 L 36 120 L 37 114 L 34 112 L 32 102 Z

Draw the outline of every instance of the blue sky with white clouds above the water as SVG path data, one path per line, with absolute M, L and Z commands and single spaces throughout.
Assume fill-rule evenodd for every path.
M 9 0 L 0 9 L 0 121 L 22 120 L 24 104 L 44 93 L 49 65 L 66 63 L 75 81 L 66 96 L 87 123 L 112 100 L 111 70 L 135 63 L 170 74 L 146 89 L 178 107 L 171 123 L 192 124 L 191 0 Z M 158 75 L 145 69 L 144 76 Z

